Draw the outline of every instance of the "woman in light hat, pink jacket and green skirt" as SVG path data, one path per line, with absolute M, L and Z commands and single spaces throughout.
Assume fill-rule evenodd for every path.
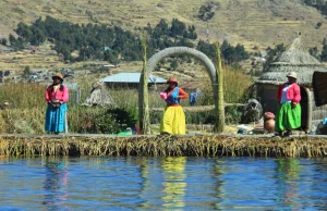
M 292 135 L 292 129 L 301 126 L 301 91 L 296 84 L 296 73 L 287 75 L 288 83 L 281 85 L 277 92 L 280 109 L 277 115 L 275 131 L 278 135 L 286 132 L 286 136 Z

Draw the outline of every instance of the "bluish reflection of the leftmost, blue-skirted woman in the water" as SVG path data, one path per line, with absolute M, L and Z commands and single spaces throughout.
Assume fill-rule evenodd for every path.
M 64 206 L 68 197 L 68 176 L 66 161 L 56 158 L 46 158 L 46 178 L 44 182 L 45 196 L 43 204 L 48 210 L 58 210 L 68 207 Z

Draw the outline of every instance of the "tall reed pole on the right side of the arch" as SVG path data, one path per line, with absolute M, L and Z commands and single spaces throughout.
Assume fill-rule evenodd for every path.
M 214 132 L 222 133 L 225 129 L 225 104 L 223 104 L 223 70 L 221 66 L 221 58 L 220 58 L 220 47 L 219 44 L 215 44 L 215 50 L 217 55 L 217 69 L 216 69 L 216 82 L 218 82 L 218 99 L 216 99 L 215 104 L 217 104 L 217 120 L 215 123 Z

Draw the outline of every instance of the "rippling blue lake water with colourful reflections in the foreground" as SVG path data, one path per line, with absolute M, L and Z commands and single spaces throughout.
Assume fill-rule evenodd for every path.
M 327 159 L 0 158 L 0 210 L 327 210 Z

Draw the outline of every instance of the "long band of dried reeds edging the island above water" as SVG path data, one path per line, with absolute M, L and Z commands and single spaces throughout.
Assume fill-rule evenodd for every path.
M 291 157 L 327 156 L 327 139 L 314 137 L 58 137 L 0 138 L 0 156 L 178 156 Z

